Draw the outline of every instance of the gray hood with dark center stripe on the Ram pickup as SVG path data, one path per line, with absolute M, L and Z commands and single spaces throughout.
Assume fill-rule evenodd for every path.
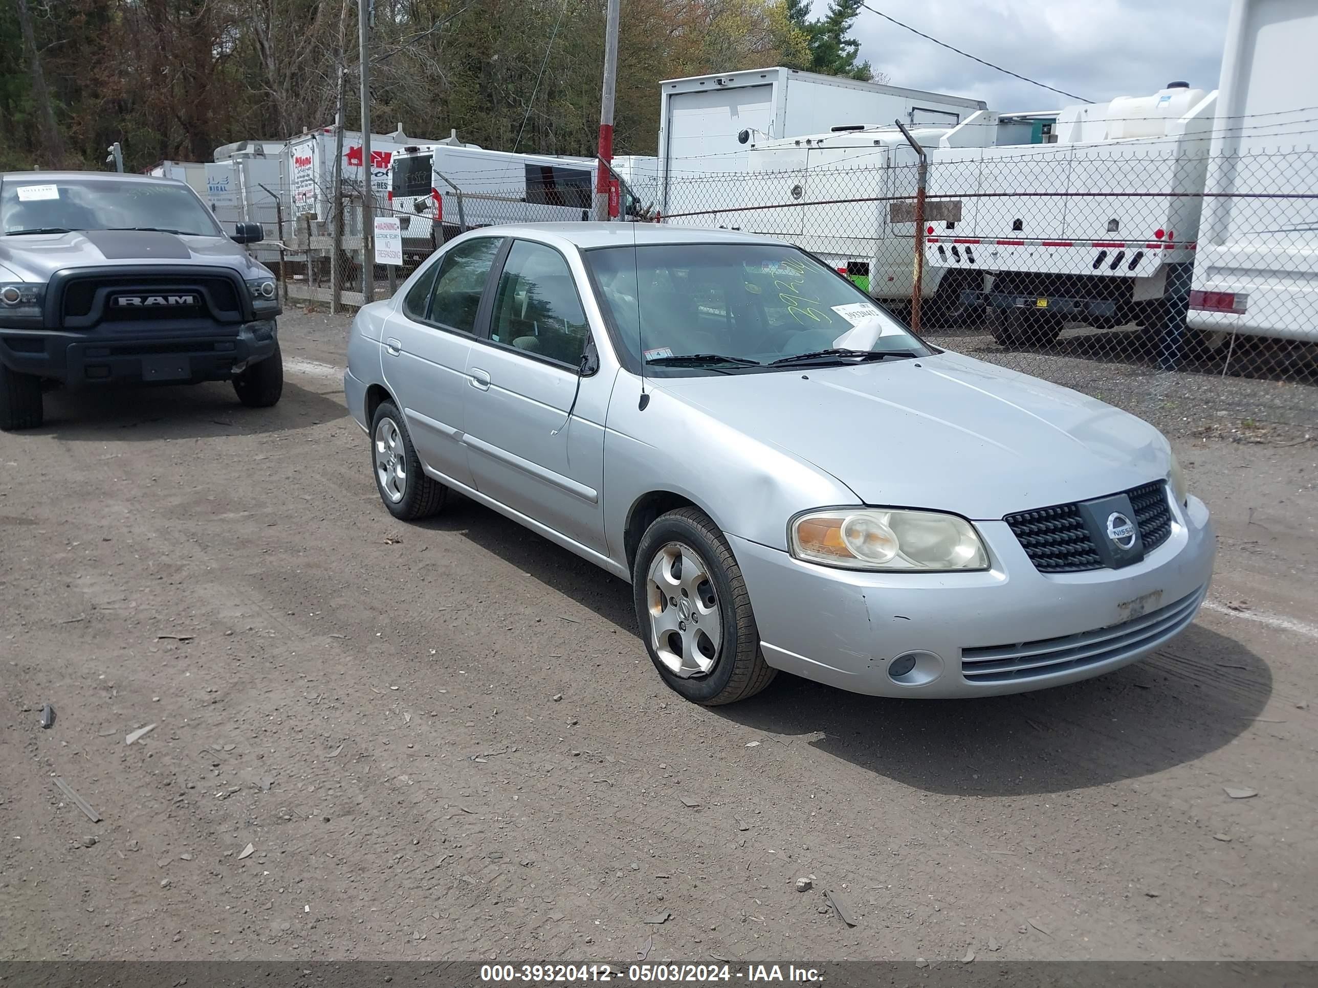
M 74 231 L 0 237 L 0 266 L 24 281 L 47 282 L 69 267 L 134 263 L 232 267 L 244 278 L 266 269 L 228 237 L 194 237 L 152 231 Z

